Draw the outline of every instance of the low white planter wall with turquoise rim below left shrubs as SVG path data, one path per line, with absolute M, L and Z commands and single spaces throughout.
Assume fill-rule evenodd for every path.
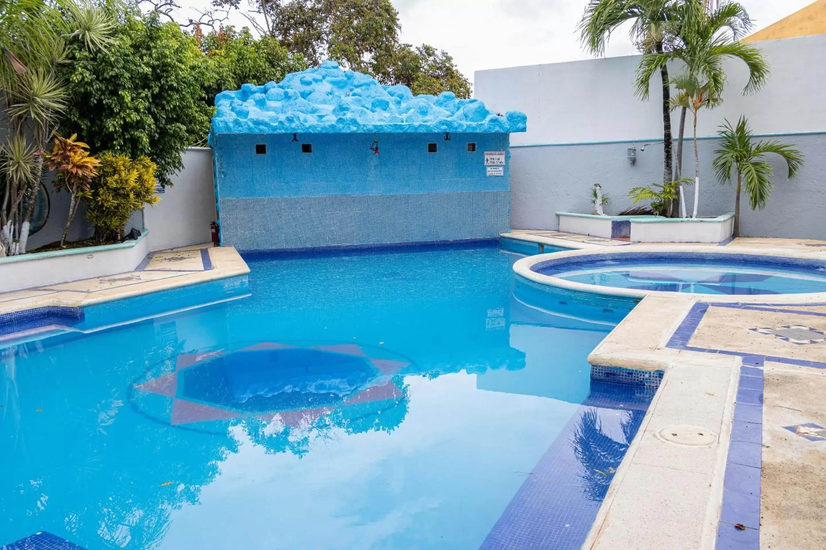
M 148 231 L 136 241 L 0 258 L 0 292 L 134 271 L 149 253 Z

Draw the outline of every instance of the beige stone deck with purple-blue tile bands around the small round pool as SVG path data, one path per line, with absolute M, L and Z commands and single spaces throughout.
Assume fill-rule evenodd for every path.
M 629 246 L 560 232 L 503 236 Z M 826 259 L 824 241 L 737 238 L 705 249 L 719 247 Z M 826 548 L 826 295 L 756 298 L 649 295 L 591 353 L 591 364 L 665 375 L 583 548 Z M 713 442 L 669 442 L 674 426 Z

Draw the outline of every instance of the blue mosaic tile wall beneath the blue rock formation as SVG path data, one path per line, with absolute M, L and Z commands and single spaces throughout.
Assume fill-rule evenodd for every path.
M 486 151 L 510 156 L 509 134 L 296 137 L 213 136 L 222 244 L 256 251 L 449 242 L 510 228 L 509 162 L 503 176 L 485 167 Z

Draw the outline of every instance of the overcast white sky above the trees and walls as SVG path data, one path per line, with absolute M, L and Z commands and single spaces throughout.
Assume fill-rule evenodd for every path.
M 473 79 L 485 68 L 587 59 L 575 29 L 586 0 L 391 0 L 399 12 L 401 40 L 430 44 L 453 55 Z M 755 29 L 762 29 L 814 0 L 741 0 Z M 179 0 L 190 12 L 209 0 Z M 243 26 L 244 17 L 231 21 Z M 606 55 L 635 54 L 625 32 L 616 33 Z

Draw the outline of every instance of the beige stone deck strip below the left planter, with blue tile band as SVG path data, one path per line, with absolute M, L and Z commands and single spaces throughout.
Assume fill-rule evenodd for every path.
M 134 271 L 2 293 L 0 319 L 27 309 L 78 308 L 248 273 L 233 247 L 208 243 L 150 252 Z

